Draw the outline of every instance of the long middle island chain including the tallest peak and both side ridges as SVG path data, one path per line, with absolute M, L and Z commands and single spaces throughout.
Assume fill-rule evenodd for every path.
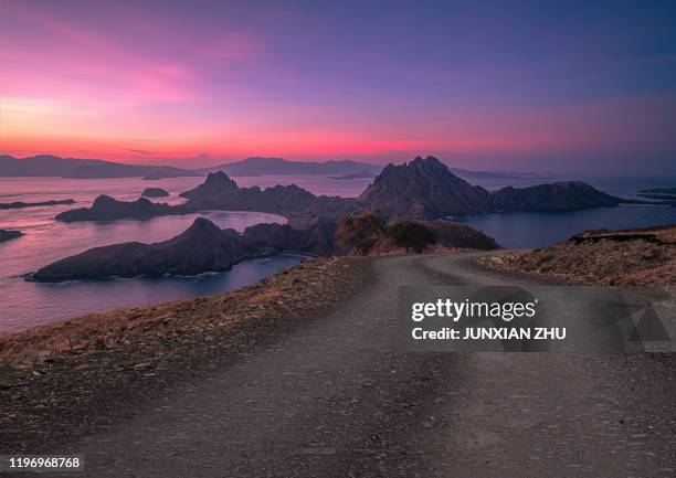
M 378 209 L 385 217 L 433 221 L 508 211 L 573 211 L 608 208 L 637 201 L 614 198 L 582 181 L 554 182 L 529 188 L 503 188 L 490 192 L 455 176 L 434 157 L 418 157 L 409 163 L 388 164 L 358 198 L 315 195 L 295 184 L 240 188 L 222 171 L 180 194 L 186 204 L 170 206 L 145 199 L 116 201 L 102 195 L 91 209 L 67 211 L 60 221 L 106 221 L 148 219 L 207 210 L 258 211 L 281 214 L 295 226 L 317 219 L 338 219 L 345 214 Z

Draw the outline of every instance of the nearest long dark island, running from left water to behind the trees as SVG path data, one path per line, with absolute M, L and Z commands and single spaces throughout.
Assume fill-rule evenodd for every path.
M 445 248 L 499 248 L 479 231 L 450 221 L 422 222 Z M 228 270 L 234 264 L 282 252 L 296 252 L 318 257 L 353 255 L 356 252 L 336 238 L 337 223 L 318 219 L 304 229 L 288 224 L 256 224 L 243 233 L 221 230 L 211 221 L 198 217 L 181 234 L 160 243 L 138 242 L 94 247 L 81 254 L 49 264 L 25 276 L 31 282 L 110 279 L 117 277 L 194 276 Z M 383 232 L 379 253 L 389 251 Z

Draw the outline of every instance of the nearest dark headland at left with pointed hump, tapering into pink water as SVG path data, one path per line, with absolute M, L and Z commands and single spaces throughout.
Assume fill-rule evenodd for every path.
M 110 277 L 194 276 L 228 270 L 250 256 L 234 230 L 220 230 L 198 217 L 183 233 L 156 244 L 137 242 L 95 247 L 50 264 L 28 278 L 35 282 L 105 279 Z

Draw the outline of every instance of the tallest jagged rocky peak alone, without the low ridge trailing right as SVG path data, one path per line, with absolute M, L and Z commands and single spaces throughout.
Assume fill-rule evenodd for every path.
M 490 194 L 453 174 L 433 157 L 388 164 L 358 198 L 388 216 L 440 219 L 490 211 Z

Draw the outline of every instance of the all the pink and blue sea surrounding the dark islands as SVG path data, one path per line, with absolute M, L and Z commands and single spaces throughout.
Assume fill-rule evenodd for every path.
M 318 176 L 258 176 L 233 178 L 241 187 L 295 183 L 315 194 L 357 196 L 370 179 L 336 180 Z M 566 179 L 566 178 L 557 178 Z M 640 189 L 676 187 L 666 178 L 577 178 L 610 194 L 636 198 Z M 551 179 L 479 178 L 473 184 L 487 189 L 504 185 L 526 187 Z M 91 205 L 99 194 L 123 201 L 136 200 L 148 187 L 166 189 L 169 198 L 157 202 L 179 204 L 178 194 L 203 182 L 203 178 L 167 178 L 144 181 L 124 179 L 0 178 L 0 203 L 73 199 L 75 204 L 0 210 L 0 229 L 15 229 L 24 236 L 0 243 L 0 333 L 25 330 L 42 323 L 115 308 L 141 307 L 233 290 L 273 273 L 293 267 L 304 256 L 281 254 L 244 261 L 231 270 L 197 277 L 75 280 L 39 284 L 23 279 L 28 273 L 87 248 L 120 242 L 160 242 L 186 230 L 198 216 L 220 227 L 237 231 L 258 223 L 283 223 L 275 214 L 236 211 L 205 211 L 170 215 L 147 221 L 77 222 L 54 221 L 60 212 Z M 566 213 L 499 213 L 471 219 L 457 217 L 496 238 L 504 247 L 540 247 L 566 240 L 590 229 L 627 229 L 676 223 L 676 208 L 664 205 L 621 205 Z

